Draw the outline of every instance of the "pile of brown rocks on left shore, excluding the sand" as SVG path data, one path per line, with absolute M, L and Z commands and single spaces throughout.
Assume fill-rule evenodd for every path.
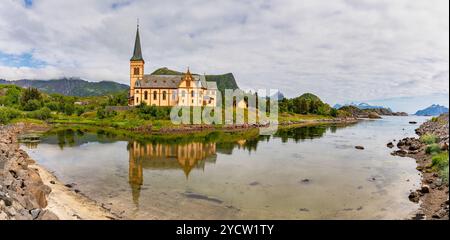
M 0 220 L 56 220 L 45 209 L 51 189 L 19 148 L 16 134 L 23 125 L 0 126 Z

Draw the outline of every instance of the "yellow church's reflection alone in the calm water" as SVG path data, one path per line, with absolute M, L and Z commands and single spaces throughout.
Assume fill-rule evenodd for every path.
M 143 169 L 182 169 L 188 178 L 194 168 L 204 169 L 206 162 L 216 161 L 216 143 L 166 144 L 133 141 L 128 143 L 128 152 L 128 181 L 136 204 L 144 182 Z

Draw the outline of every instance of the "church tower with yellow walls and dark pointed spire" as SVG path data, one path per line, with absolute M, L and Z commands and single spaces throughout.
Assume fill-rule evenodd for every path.
M 136 39 L 134 41 L 134 52 L 130 59 L 130 101 L 129 105 L 134 105 L 134 84 L 137 80 L 144 77 L 144 59 L 142 58 L 141 39 L 139 37 L 139 23 L 136 30 Z

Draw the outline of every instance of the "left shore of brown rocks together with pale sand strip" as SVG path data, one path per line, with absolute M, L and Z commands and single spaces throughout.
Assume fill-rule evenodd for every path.
M 121 218 L 29 158 L 17 139 L 31 129 L 24 124 L 0 125 L 0 220 Z

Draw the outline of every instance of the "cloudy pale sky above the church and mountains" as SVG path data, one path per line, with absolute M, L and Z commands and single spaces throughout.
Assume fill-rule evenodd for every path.
M 2 0 L 0 78 L 128 84 L 137 18 L 147 73 L 190 66 L 331 104 L 448 106 L 448 0 Z

